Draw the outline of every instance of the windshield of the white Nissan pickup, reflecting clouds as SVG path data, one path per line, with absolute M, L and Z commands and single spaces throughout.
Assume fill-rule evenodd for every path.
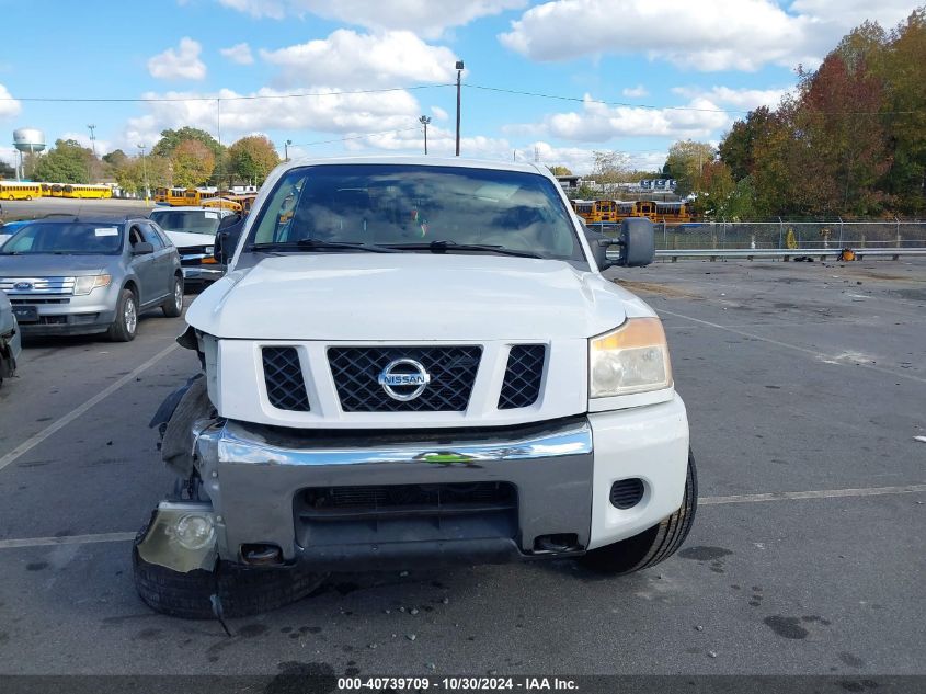
M 322 250 L 321 244 L 305 243 L 307 239 L 410 251 L 437 242 L 442 252 L 495 247 L 539 258 L 585 260 L 553 183 L 535 173 L 492 169 L 413 164 L 294 169 L 262 207 L 248 243 L 251 249 L 294 244 L 279 250 Z M 304 243 L 295 247 L 299 241 Z M 482 248 L 472 248 L 477 246 Z

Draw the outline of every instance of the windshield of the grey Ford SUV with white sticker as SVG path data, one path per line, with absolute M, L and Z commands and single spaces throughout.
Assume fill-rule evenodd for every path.
M 117 255 L 122 239 L 117 225 L 38 221 L 19 229 L 3 243 L 0 254 Z

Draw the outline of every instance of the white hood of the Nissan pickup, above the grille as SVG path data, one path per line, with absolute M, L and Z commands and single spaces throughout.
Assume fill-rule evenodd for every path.
M 317 253 L 270 258 L 187 309 L 218 338 L 487 341 L 588 338 L 653 315 L 598 273 L 501 255 Z

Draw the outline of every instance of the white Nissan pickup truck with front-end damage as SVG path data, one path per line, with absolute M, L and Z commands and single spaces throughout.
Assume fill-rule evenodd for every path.
M 608 248 L 610 247 L 610 248 Z M 675 553 L 697 503 L 662 323 L 602 275 L 544 167 L 291 161 L 179 338 L 203 374 L 152 425 L 178 475 L 134 548 L 155 610 L 243 616 L 331 571 Z

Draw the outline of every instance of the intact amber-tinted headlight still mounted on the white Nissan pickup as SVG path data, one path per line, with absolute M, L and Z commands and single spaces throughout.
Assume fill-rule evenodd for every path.
M 627 322 L 588 341 L 590 397 L 660 390 L 672 385 L 668 345 L 659 318 Z

